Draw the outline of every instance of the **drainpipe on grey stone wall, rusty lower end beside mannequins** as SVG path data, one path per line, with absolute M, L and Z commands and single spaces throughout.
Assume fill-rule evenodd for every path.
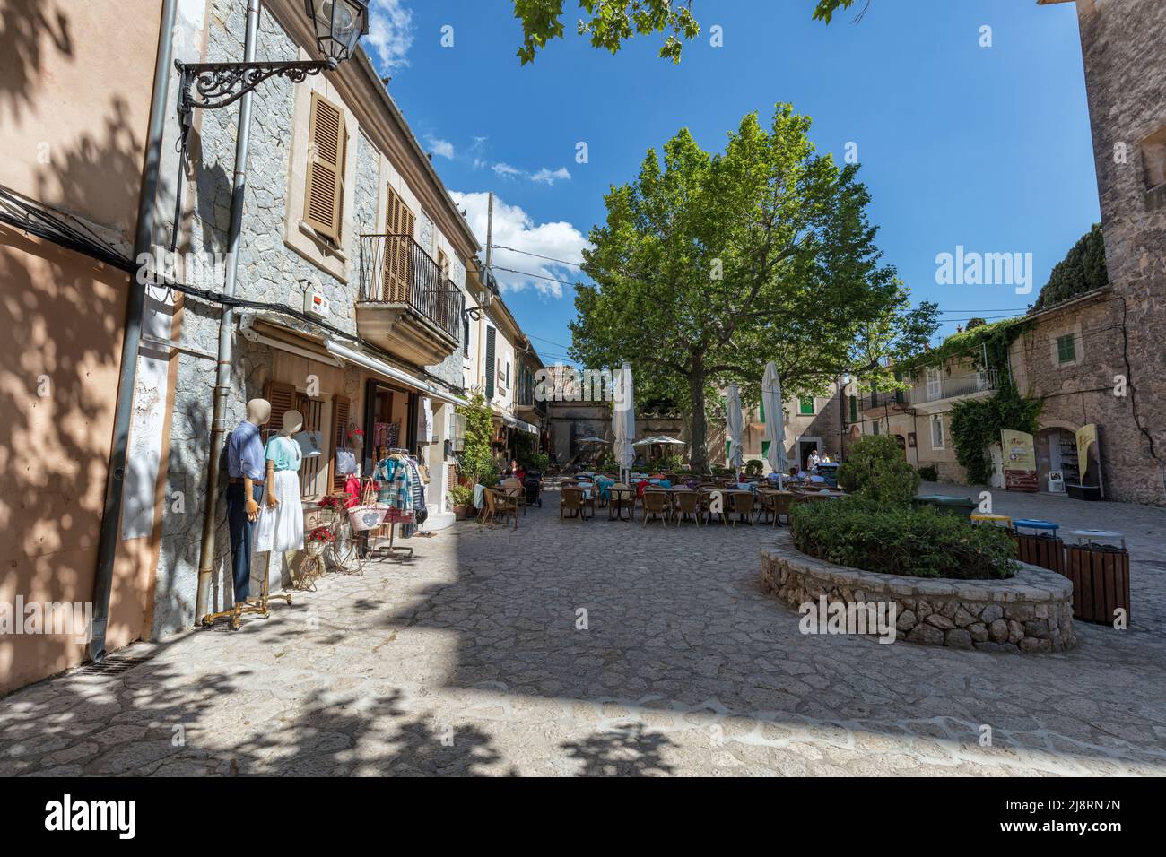
M 255 61 L 255 35 L 259 30 L 259 0 L 247 0 L 247 35 L 243 61 Z M 251 97 L 239 99 L 239 131 L 234 142 L 234 174 L 231 184 L 231 231 L 227 236 L 226 276 L 223 294 L 234 295 L 239 269 L 239 238 L 243 234 L 243 204 L 247 185 L 247 145 L 251 140 Z M 219 317 L 218 364 L 215 377 L 215 405 L 211 414 L 210 461 L 206 465 L 206 513 L 203 517 L 203 540 L 198 550 L 198 595 L 195 599 L 195 624 L 209 612 L 211 575 L 215 570 L 215 532 L 218 515 L 219 457 L 226 434 L 226 400 L 231 394 L 231 345 L 234 337 L 234 308 L 223 307 Z

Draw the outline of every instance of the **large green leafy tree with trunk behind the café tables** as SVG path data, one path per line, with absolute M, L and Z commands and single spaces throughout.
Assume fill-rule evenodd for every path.
M 736 381 L 757 401 L 773 360 L 789 394 L 845 373 L 893 386 L 887 357 L 921 347 L 934 304 L 909 309 L 881 264 L 858 167 L 819 155 L 810 120 L 779 104 L 768 127 L 742 119 L 723 153 L 687 131 L 649 149 L 639 176 L 605 196 L 576 291 L 571 357 L 632 364 L 637 399 L 670 399 L 691 417 L 704 468 L 705 401 Z M 888 388 L 883 386 L 883 388 Z

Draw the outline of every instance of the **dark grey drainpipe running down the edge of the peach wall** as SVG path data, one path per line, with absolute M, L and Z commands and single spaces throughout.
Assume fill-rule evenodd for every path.
M 142 188 L 138 198 L 138 226 L 134 232 L 134 260 L 148 253 L 154 239 L 154 208 L 157 197 L 159 166 L 162 160 L 162 132 L 166 126 L 167 94 L 170 89 L 170 57 L 174 49 L 174 22 L 177 0 L 164 0 L 157 31 L 157 58 L 154 65 L 154 91 L 150 98 L 146 153 L 142 163 Z M 121 339 L 121 368 L 118 377 L 118 403 L 113 412 L 113 442 L 110 469 L 105 478 L 105 506 L 97 545 L 97 568 L 93 574 L 93 624 L 89 656 L 94 663 L 105 658 L 105 628 L 110 621 L 110 592 L 113 589 L 113 563 L 118 553 L 118 525 L 121 522 L 121 498 L 125 493 L 126 461 L 129 448 L 129 421 L 133 417 L 134 388 L 138 384 L 138 346 L 142 333 L 142 309 L 146 289 L 129 279 L 126 297 L 125 336 Z

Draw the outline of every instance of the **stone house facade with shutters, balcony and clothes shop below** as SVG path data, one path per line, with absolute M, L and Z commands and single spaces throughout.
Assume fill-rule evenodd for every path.
M 241 59 L 246 6 L 239 0 L 185 0 L 185 30 L 176 34 L 176 44 L 187 50 L 180 58 Z M 265 0 L 257 58 L 315 56 L 303 3 Z M 307 223 L 305 195 L 311 189 L 305 175 L 309 161 L 318 156 L 312 148 L 316 140 L 309 138 L 316 133 L 314 119 L 324 110 L 321 104 L 342 117 L 338 239 Z M 188 204 L 180 224 L 180 250 L 187 253 L 226 252 L 237 122 L 238 105 L 195 111 Z M 363 51 L 358 49 L 333 72 L 302 83 L 275 77 L 254 90 L 236 295 L 264 305 L 237 310 L 227 426 L 244 419 L 245 403 L 253 398 L 273 402 L 268 430 L 279 429 L 285 409 L 301 410 L 305 428 L 321 433 L 324 450 L 311 472 L 301 471 L 305 508 L 315 497 L 336 489 L 338 477 L 331 471 L 337 447 L 351 447 L 356 430 L 365 430 L 367 441 L 358 448 L 358 461 L 367 473 L 374 457 L 367 429 L 391 428 L 384 434 L 387 445 L 408 448 L 428 465 L 427 526 L 433 528 L 454 520 L 447 497 L 454 459 L 445 457 L 444 441 L 452 437 L 454 408 L 464 401 L 461 321 L 450 325 L 452 338 L 447 344 L 447 335 L 435 333 L 416 314 L 402 312 L 379 324 L 381 309 L 361 303 L 368 297 L 368 282 L 380 282 L 380 272 L 388 271 L 384 236 L 403 236 L 403 230 L 408 236 L 400 241 L 401 252 L 413 260 L 408 276 L 416 278 L 419 266 L 440 268 L 441 281 L 459 293 L 449 308 L 452 317 L 464 305 L 466 265 L 478 245 Z M 361 236 L 381 236 L 380 244 Z M 303 310 L 305 293 L 321 296 L 328 308 L 318 322 L 282 311 Z M 178 303 L 166 491 L 184 503 L 181 512 L 170 511 L 162 521 L 154 637 L 189 627 L 196 619 L 206 508 L 220 309 L 194 296 L 181 296 Z M 366 315 L 359 316 L 361 311 Z M 375 336 L 370 332 L 374 328 Z M 398 340 L 408 342 L 412 350 L 399 353 Z M 431 421 L 424 419 L 426 406 Z M 212 486 L 219 504 L 211 610 L 231 605 L 222 501 L 225 478 L 224 471 L 223 484 Z M 288 556 L 280 563 L 285 581 L 296 561 Z

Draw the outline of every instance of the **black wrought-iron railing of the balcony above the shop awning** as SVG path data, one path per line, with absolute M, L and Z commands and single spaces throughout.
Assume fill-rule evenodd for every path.
M 360 236 L 360 300 L 408 307 L 461 337 L 462 290 L 409 236 Z

